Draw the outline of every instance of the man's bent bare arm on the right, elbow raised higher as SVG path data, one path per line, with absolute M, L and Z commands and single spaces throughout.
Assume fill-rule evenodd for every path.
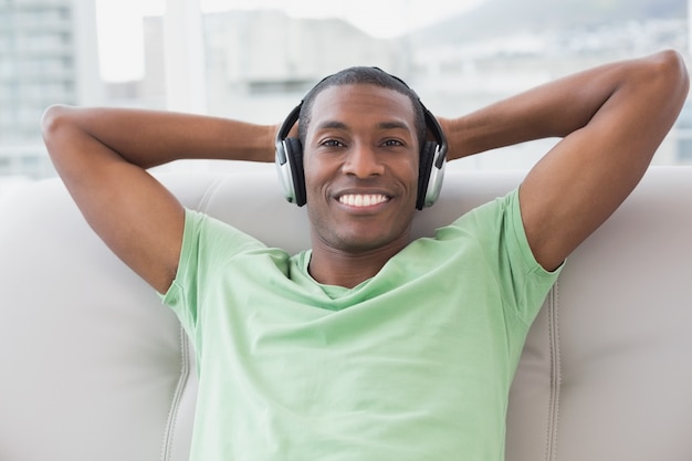
M 450 158 L 563 138 L 520 189 L 528 243 L 553 270 L 637 186 L 688 88 L 681 57 L 665 51 L 570 75 L 441 123 Z

